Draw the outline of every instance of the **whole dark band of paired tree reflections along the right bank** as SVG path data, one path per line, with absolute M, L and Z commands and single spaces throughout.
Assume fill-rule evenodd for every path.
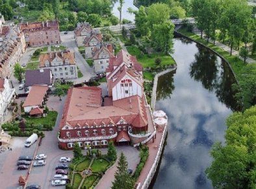
M 197 46 L 199 52 L 195 54 L 196 60 L 190 65 L 190 76 L 201 82 L 205 89 L 209 91 L 214 89 L 218 100 L 227 107 L 233 111 L 240 110 L 235 100 L 236 91 L 232 87 L 235 78 L 227 63 L 224 61 L 218 63 L 216 54 Z

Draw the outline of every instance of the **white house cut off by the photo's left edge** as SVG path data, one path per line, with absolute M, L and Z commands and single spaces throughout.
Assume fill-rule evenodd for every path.
M 6 78 L 0 79 L 0 124 L 5 121 L 7 108 L 10 106 L 15 96 L 15 89 L 10 87 Z

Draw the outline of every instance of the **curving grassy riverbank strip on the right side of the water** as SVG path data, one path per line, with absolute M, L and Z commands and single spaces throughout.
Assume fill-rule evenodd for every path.
M 176 32 L 185 38 L 191 39 L 192 41 L 203 45 L 220 56 L 220 58 L 223 58 L 231 68 L 231 71 L 233 72 L 239 85 L 239 87 L 233 86 L 236 87 L 238 91 L 236 95 L 237 100 L 241 102 L 244 109 L 250 107 L 251 104 L 254 104 L 253 96 L 255 96 L 255 93 L 253 90 L 255 90 L 256 63 L 246 64 L 240 60 L 238 56 L 230 55 L 229 52 L 225 51 L 224 49 L 217 47 L 212 43 L 207 43 L 205 39 L 201 39 L 201 37 L 197 34 L 188 32 L 186 28 L 180 28 Z

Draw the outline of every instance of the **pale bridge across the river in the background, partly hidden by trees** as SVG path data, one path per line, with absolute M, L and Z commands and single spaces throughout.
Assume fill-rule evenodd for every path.
M 186 19 L 188 20 L 188 23 L 191 23 L 191 24 L 196 23 L 194 17 L 186 17 Z M 177 27 L 182 24 L 183 19 L 172 19 L 171 21 Z M 101 28 L 109 28 L 112 32 L 119 32 L 120 30 L 122 30 L 123 27 L 125 27 L 128 30 L 131 30 L 136 28 L 136 25 L 134 23 L 129 23 L 129 24 L 121 25 L 121 27 L 120 25 L 115 25 L 115 26 L 101 27 Z M 100 30 L 101 28 L 95 28 L 95 29 Z

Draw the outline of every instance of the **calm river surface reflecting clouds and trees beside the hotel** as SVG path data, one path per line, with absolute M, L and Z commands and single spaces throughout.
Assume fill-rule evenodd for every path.
M 209 151 L 224 142 L 225 119 L 239 109 L 227 64 L 209 50 L 174 39 L 177 71 L 159 78 L 157 104 L 169 117 L 168 139 L 153 188 L 212 188 Z

